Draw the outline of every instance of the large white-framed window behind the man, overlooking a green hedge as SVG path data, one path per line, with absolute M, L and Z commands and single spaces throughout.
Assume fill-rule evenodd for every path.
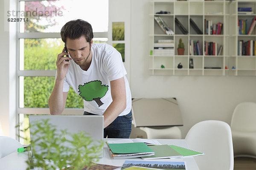
M 108 42 L 108 0 L 18 0 L 13 16 L 18 22 L 17 34 L 17 116 L 28 124 L 29 114 L 49 114 L 48 99 L 55 83 L 56 57 L 64 42 L 60 30 L 70 20 L 88 21 L 94 32 L 94 43 Z M 99 4 L 101 4 L 99 6 Z M 64 114 L 82 114 L 83 101 L 70 88 Z M 20 131 L 22 133 L 22 131 Z M 27 134 L 20 134 L 20 136 Z M 20 139 L 26 144 L 26 141 Z

